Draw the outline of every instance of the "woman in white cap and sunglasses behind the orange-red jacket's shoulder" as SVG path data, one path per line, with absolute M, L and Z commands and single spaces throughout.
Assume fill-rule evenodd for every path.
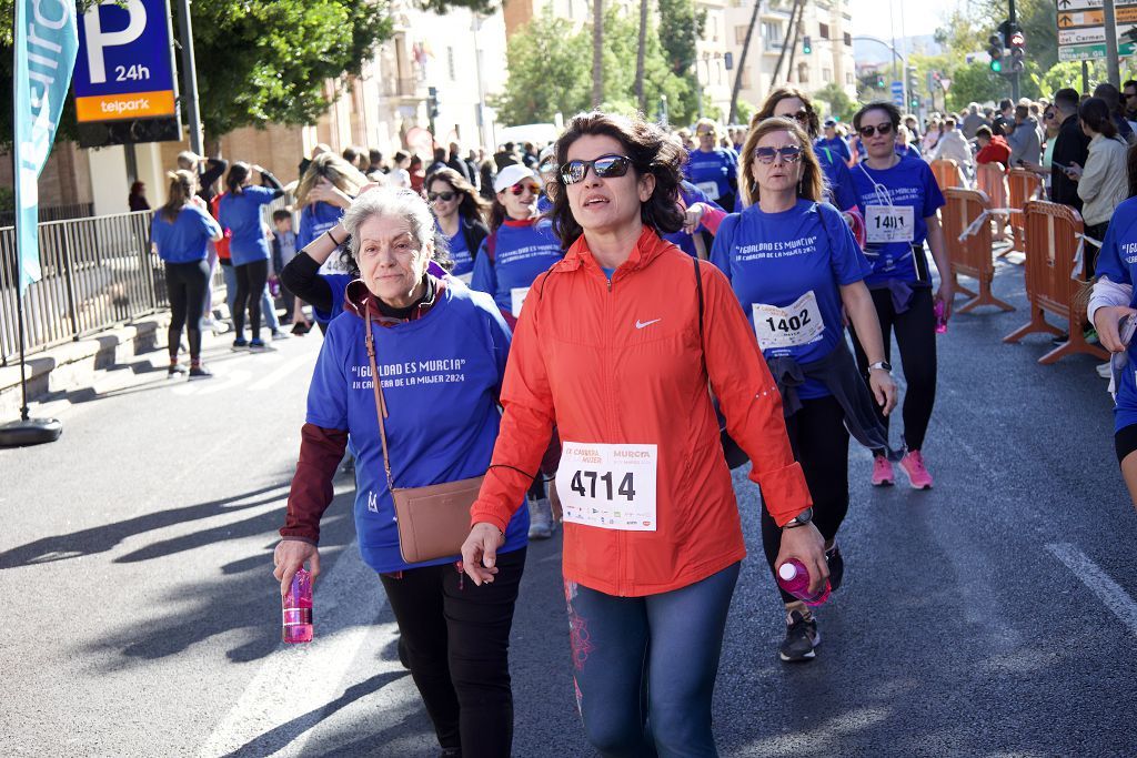
M 474 259 L 474 275 L 470 286 L 493 297 L 509 327 L 517 325 L 522 305 L 533 280 L 564 257 L 561 241 L 553 233 L 548 219 L 537 214 L 540 193 L 537 174 L 520 164 L 506 166 L 493 180 L 493 205 L 490 207 L 490 234 Z M 532 540 L 547 540 L 557 528 L 553 518 L 555 488 L 546 492 L 542 474 L 555 470 L 556 436 L 546 456 L 548 465 L 533 480 L 529 490 L 530 528 Z M 553 466 L 553 470 L 549 469 Z

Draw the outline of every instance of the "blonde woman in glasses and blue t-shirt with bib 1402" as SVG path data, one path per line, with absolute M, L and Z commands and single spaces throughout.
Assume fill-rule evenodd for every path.
M 766 118 L 750 130 L 739 174 L 747 208 L 719 226 L 711 263 L 731 281 L 782 393 L 786 430 L 813 495 L 813 523 L 825 539 L 836 590 L 844 573 L 836 540 L 849 505 L 849 432 L 870 448 L 887 447 L 874 411 L 878 406 L 883 414 L 891 410 L 896 388 L 864 284 L 872 268 L 840 213 L 822 201 L 822 169 L 811 144 L 805 130 L 788 118 Z M 873 397 L 846 347 L 843 309 L 872 358 Z M 771 570 L 781 534 L 763 513 L 762 543 Z M 785 591 L 781 595 L 787 628 L 779 655 L 808 660 L 819 641 L 818 622 L 804 602 Z

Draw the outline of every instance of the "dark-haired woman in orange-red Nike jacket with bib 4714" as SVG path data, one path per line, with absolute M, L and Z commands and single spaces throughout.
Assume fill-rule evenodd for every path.
M 550 215 L 568 249 L 517 323 L 464 569 L 493 581 L 501 531 L 556 424 L 588 739 L 604 756 L 714 756 L 712 692 L 746 548 L 708 381 L 786 527 L 778 563 L 802 559 L 814 589 L 828 576 L 821 535 L 730 283 L 659 238 L 683 223 L 680 147 L 642 120 L 592 113 L 572 120 L 556 155 Z

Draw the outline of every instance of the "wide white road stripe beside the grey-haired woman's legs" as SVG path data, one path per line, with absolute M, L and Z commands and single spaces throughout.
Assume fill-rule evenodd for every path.
M 265 591 L 273 591 L 271 581 Z M 375 572 L 351 543 L 316 581 L 313 600 L 315 639 L 308 644 L 281 643 L 265 658 L 199 756 L 224 756 L 258 738 L 265 739 L 257 745 L 258 755 L 285 748 L 291 752 L 319 723 L 325 706 L 341 692 L 359 647 L 373 632 L 385 595 Z M 268 734 L 283 724 L 290 727 L 275 736 Z

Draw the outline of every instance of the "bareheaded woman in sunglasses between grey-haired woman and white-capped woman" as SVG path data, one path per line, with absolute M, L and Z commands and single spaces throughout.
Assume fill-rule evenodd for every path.
M 440 168 L 426 181 L 426 201 L 434 211 L 438 228 L 449 241 L 450 273 L 464 282 L 474 274 L 474 256 L 489 236 L 485 213 L 490 203 L 474 185 L 453 168 Z

